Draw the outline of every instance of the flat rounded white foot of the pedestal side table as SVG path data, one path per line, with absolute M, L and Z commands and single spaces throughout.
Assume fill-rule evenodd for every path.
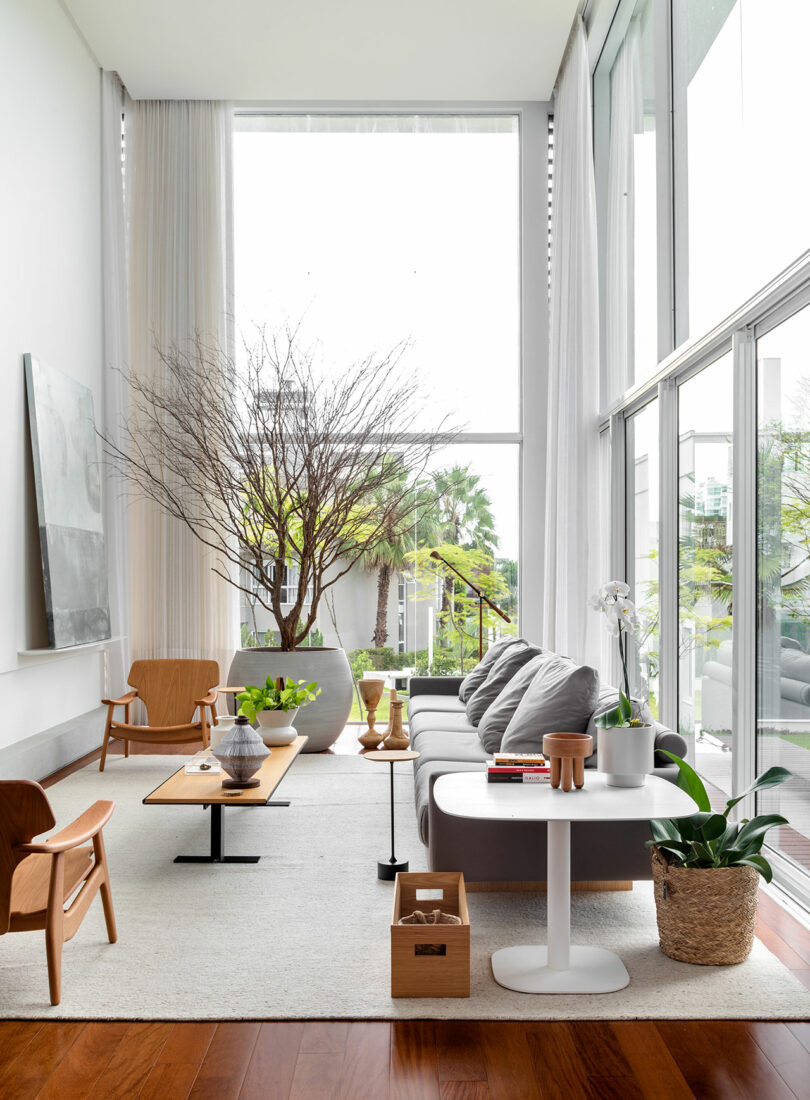
M 603 947 L 569 949 L 565 970 L 548 965 L 547 947 L 504 947 L 492 956 L 499 986 L 517 993 L 615 993 L 630 985 L 624 963 Z

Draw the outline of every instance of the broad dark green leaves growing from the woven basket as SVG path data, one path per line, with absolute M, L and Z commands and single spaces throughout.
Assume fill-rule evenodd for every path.
M 713 813 L 709 795 L 700 776 L 686 760 L 666 752 L 678 765 L 678 787 L 697 802 L 700 813 L 677 820 L 659 818 L 649 823 L 653 839 L 647 847 L 658 848 L 674 867 L 753 867 L 766 882 L 773 872 L 762 855 L 765 834 L 774 825 L 787 825 L 781 814 L 760 814 L 742 822 L 730 822 L 729 812 L 746 795 L 778 787 L 792 778 L 786 768 L 768 768 L 751 787 L 735 799 L 729 799 L 722 814 Z

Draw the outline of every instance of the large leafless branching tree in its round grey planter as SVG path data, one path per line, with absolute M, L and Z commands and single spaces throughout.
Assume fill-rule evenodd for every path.
M 414 522 L 403 506 L 409 484 L 453 435 L 444 421 L 425 430 L 427 398 L 403 369 L 403 350 L 327 378 L 291 331 L 260 330 L 239 363 L 197 336 L 156 350 L 157 382 L 129 374 L 121 441 L 105 438 L 135 491 L 214 550 L 214 571 L 271 613 L 278 645 L 238 650 L 229 683 L 270 675 L 320 684 L 298 725 L 310 752 L 346 725 L 352 676 L 343 650 L 302 642 L 325 593 Z

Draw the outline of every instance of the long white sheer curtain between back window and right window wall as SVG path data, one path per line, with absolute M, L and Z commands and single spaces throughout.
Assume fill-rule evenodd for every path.
M 599 664 L 599 290 L 591 76 L 581 19 L 555 103 L 544 641 Z

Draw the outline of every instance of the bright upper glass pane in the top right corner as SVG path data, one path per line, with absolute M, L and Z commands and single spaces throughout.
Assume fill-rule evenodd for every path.
M 688 223 L 689 334 L 731 314 L 810 246 L 806 0 L 674 0 Z M 683 160 L 686 163 L 683 163 Z

